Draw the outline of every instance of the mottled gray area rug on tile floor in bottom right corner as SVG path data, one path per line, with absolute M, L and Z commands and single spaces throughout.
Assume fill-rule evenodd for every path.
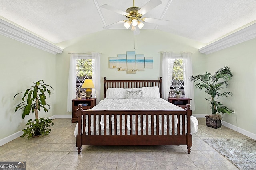
M 253 139 L 204 139 L 240 170 L 256 169 L 256 141 Z

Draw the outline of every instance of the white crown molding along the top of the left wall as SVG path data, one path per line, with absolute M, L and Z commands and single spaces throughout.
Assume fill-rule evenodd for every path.
M 0 18 L 0 34 L 10 37 L 12 39 L 16 39 L 22 43 L 31 45 L 38 49 L 42 49 L 52 54 L 62 53 L 63 49 L 57 47 L 56 45 L 45 41 L 42 38 L 25 31 L 7 21 L 4 21 Z

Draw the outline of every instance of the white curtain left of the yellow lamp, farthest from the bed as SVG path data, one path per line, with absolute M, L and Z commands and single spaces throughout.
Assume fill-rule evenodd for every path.
M 70 65 L 68 74 L 68 100 L 67 100 L 67 112 L 72 112 L 72 99 L 76 98 L 76 60 L 77 54 L 72 53 L 70 55 Z

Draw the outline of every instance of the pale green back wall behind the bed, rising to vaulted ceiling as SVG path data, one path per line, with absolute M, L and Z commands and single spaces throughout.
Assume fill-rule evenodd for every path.
M 58 107 L 56 114 L 71 114 L 66 111 L 66 98 L 68 87 L 68 72 L 70 54 L 68 53 L 91 53 L 101 54 L 101 79 L 103 99 L 103 78 L 108 80 L 139 80 L 158 79 L 162 76 L 162 56 L 160 51 L 192 52 L 193 72 L 204 72 L 206 70 L 206 55 L 199 53 L 198 48 L 202 43 L 172 35 L 158 30 L 142 30 L 137 35 L 137 46 L 134 50 L 134 36 L 130 30 L 105 30 L 92 33 L 78 39 L 65 41 L 58 44 L 63 48 L 62 54 L 56 55 L 56 103 Z M 136 54 L 144 54 L 145 57 L 153 57 L 154 68 L 145 69 L 144 72 L 126 74 L 116 69 L 108 68 L 108 57 L 117 57 L 117 54 L 125 54 L 126 51 L 136 51 Z M 204 93 L 195 90 L 195 96 L 202 96 Z M 204 97 L 198 98 L 196 103 L 196 114 L 206 114 L 207 103 Z M 204 104 L 202 104 L 204 103 Z

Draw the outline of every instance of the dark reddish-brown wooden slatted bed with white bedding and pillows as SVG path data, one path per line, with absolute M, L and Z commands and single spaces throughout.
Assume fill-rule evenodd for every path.
M 82 145 L 187 145 L 198 121 L 190 105 L 184 110 L 162 99 L 162 79 L 106 80 L 104 100 L 90 110 L 78 105 L 75 128 Z M 147 103 L 148 105 L 144 105 Z M 137 107 L 133 106 L 137 105 Z

